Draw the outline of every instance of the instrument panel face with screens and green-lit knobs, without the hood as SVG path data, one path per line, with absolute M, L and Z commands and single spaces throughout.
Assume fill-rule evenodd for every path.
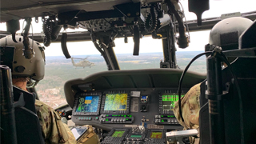
M 182 96 L 186 91 L 182 90 Z M 177 130 L 182 129 L 173 112 L 177 101 L 177 88 L 78 92 L 72 121 L 110 129 L 143 125 L 147 129 Z

